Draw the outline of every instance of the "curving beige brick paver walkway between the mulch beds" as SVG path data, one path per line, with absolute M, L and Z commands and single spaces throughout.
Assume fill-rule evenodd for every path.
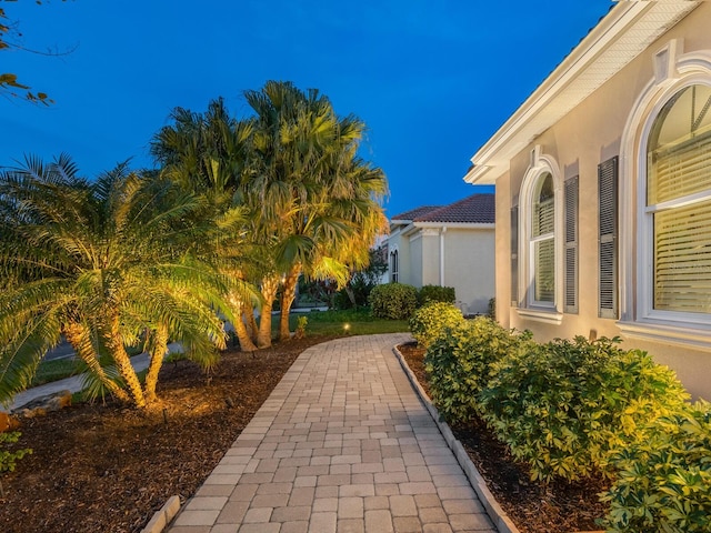
M 392 346 L 304 351 L 170 533 L 495 532 Z

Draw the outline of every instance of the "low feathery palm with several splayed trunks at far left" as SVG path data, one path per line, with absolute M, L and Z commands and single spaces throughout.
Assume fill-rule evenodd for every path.
M 94 182 L 64 155 L 3 171 L 0 399 L 29 385 L 61 335 L 109 392 L 140 408 L 156 399 L 169 338 L 212 364 L 224 346 L 216 311 L 227 312 L 230 283 L 217 268 L 218 229 L 187 222 L 203 209 L 126 164 Z M 151 356 L 144 385 L 126 350 L 141 344 Z M 106 356 L 114 370 L 102 366 Z

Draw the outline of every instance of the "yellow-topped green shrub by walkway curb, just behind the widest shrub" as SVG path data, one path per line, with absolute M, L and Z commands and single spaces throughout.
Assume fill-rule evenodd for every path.
M 528 343 L 530 333 L 517 334 L 491 319 L 461 321 L 428 348 L 424 368 L 432 402 L 449 422 L 467 422 L 479 413 L 478 395 L 491 365 Z

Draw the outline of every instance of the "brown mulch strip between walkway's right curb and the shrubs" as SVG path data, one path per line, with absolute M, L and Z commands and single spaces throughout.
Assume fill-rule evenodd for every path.
M 422 362 L 424 350 L 417 344 L 398 346 L 422 388 L 428 392 Z M 600 530 L 595 519 L 607 510 L 598 501 L 605 490 L 603 480 L 578 483 L 551 483 L 545 486 L 530 481 L 524 464 L 517 463 L 504 444 L 480 420 L 452 428 L 463 444 L 487 486 L 521 533 L 571 533 Z

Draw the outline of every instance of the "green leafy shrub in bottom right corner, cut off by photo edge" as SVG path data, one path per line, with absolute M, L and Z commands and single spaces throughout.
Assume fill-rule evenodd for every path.
M 687 406 L 649 429 L 649 440 L 611 457 L 619 474 L 602 496 L 607 531 L 711 531 L 711 404 Z

